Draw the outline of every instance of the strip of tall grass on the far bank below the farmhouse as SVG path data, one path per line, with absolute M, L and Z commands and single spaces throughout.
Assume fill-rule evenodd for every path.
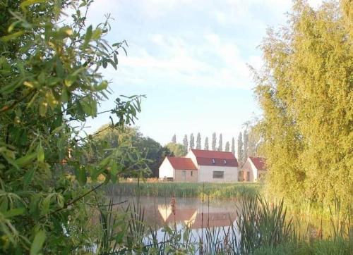
M 210 197 L 230 199 L 256 197 L 259 183 L 186 183 L 186 182 L 120 182 L 107 185 L 107 194 L 114 196 Z

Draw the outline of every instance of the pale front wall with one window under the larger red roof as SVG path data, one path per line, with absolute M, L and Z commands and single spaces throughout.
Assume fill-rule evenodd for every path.
M 213 171 L 223 171 L 223 178 L 213 178 Z M 238 182 L 238 168 L 230 166 L 198 166 L 198 182 Z

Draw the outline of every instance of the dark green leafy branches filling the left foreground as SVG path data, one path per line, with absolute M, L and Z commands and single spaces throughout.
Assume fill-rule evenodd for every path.
M 116 180 L 118 153 L 85 164 L 92 136 L 77 123 L 107 99 L 101 68 L 116 68 L 124 42 L 108 44 L 109 16 L 85 25 L 92 1 L 1 1 L 0 252 L 68 254 L 90 243 L 86 203 Z M 71 18 L 63 20 L 67 6 Z M 69 24 L 66 24 L 69 23 Z M 140 97 L 120 97 L 116 128 L 133 123 Z M 86 184 L 90 179 L 91 184 Z

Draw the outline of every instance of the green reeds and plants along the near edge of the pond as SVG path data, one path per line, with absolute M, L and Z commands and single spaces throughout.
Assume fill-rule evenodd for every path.
M 242 200 L 237 220 L 225 228 L 205 228 L 203 236 L 193 235 L 189 228 L 164 226 L 162 240 L 157 229 L 147 228 L 144 211 L 128 206 L 124 219 L 115 218 L 117 208 L 112 199 L 100 210 L 102 240 L 96 254 L 352 254 L 353 231 L 350 215 L 331 211 L 331 235 L 326 239 L 307 241 L 297 235 L 287 218 L 283 201 L 268 204 L 261 197 Z M 340 219 L 337 218 L 340 215 Z M 343 217 L 343 218 L 341 218 Z M 343 219 L 349 218 L 342 223 Z M 337 220 L 337 221 L 336 221 Z M 120 221 L 120 223 L 119 223 Z M 123 227 L 121 228 L 121 225 Z M 116 231 L 116 228 L 119 231 Z

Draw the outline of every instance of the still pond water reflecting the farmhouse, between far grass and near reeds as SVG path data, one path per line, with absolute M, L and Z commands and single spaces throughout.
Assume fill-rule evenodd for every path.
M 191 229 L 196 240 L 205 235 L 206 228 L 220 229 L 220 235 L 225 235 L 229 225 L 234 224 L 239 208 L 235 199 L 214 200 L 181 197 L 112 197 L 114 204 L 121 203 L 121 209 L 128 204 L 135 204 L 144 209 L 145 225 L 157 230 L 157 240 L 164 236 L 164 227 L 168 225 L 177 230 Z M 126 202 L 124 202 L 126 201 Z M 221 237 L 220 236 L 220 237 Z

